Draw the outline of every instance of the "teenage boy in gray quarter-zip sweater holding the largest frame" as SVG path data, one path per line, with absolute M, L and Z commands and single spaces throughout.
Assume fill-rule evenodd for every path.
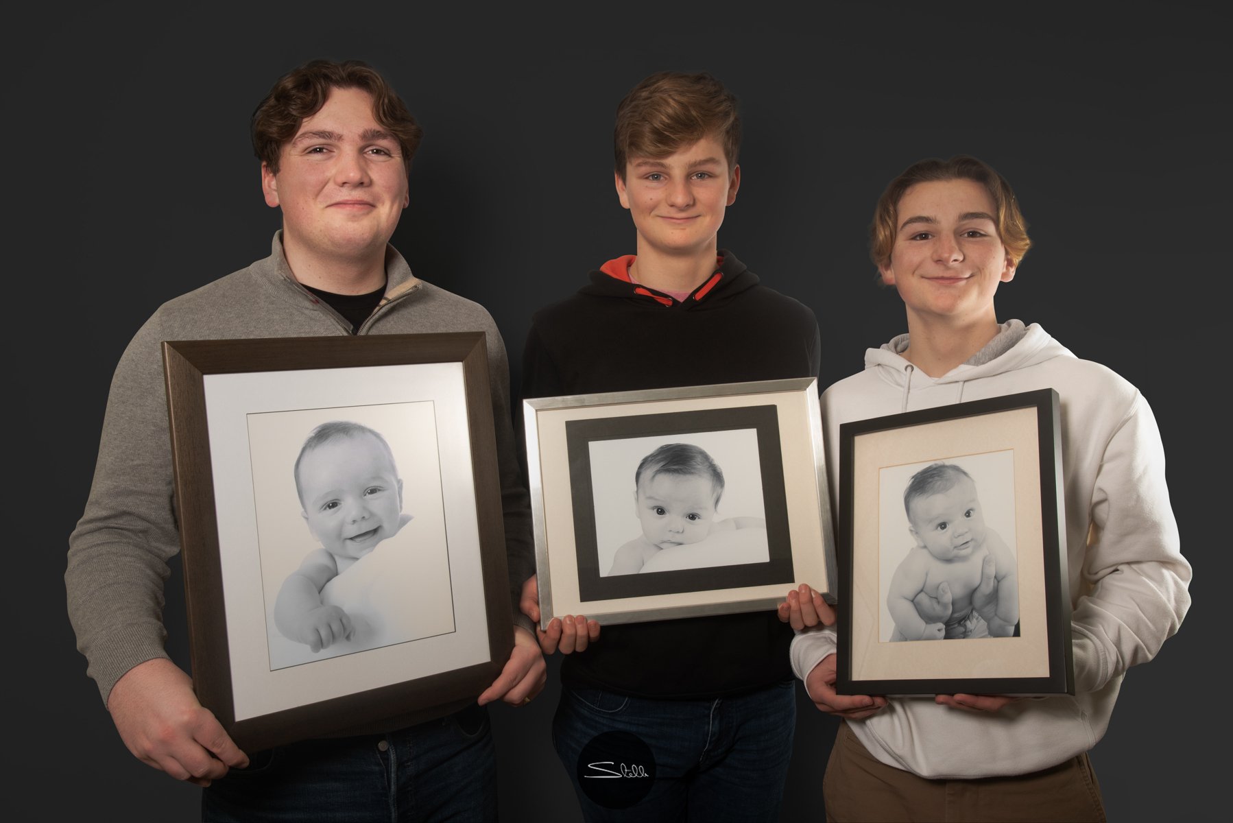
M 313 60 L 275 84 L 252 131 L 265 201 L 282 210 L 282 230 L 270 257 L 162 306 L 116 369 L 94 486 L 70 538 L 65 574 L 78 648 L 133 755 L 210 787 L 207 819 L 248 818 L 256 808 L 272 816 L 261 819 L 374 819 L 399 800 L 411 804 L 392 792 L 413 792 L 430 817 L 491 819 L 492 738 L 475 701 L 460 696 L 456 713 L 445 718 L 350 729 L 358 737 L 252 753 L 250 761 L 163 649 L 163 581 L 179 536 L 162 341 L 486 332 L 515 595 L 531 574 L 501 336 L 483 307 L 417 279 L 388 244 L 408 204 L 419 126 L 370 67 Z M 543 689 L 535 635 L 525 618 L 514 619 L 520 626 L 513 654 L 480 706 L 519 705 Z M 229 769 L 250 774 L 228 780 Z

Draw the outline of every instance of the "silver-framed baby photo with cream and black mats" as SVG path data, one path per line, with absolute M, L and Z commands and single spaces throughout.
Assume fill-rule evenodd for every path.
M 523 402 L 541 624 L 774 608 L 835 569 L 817 381 Z

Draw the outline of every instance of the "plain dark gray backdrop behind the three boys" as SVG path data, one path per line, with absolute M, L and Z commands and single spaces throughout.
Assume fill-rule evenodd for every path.
M 999 292 L 1000 317 L 1038 321 L 1139 386 L 1197 566 L 1181 634 L 1131 672 L 1094 750 L 1106 803 L 1131 821 L 1168 814 L 1175 797 L 1212 801 L 1217 763 L 1196 748 L 1227 722 L 1203 665 L 1227 644 L 1203 597 L 1228 570 L 1216 496 L 1227 482 L 1210 480 L 1217 449 L 1227 454 L 1227 416 L 1195 378 L 1229 295 L 1218 148 L 1229 143 L 1229 77 L 1217 57 L 1224 30 L 1201 5 L 1048 5 L 1047 16 L 846 2 L 808 17 L 777 4 L 10 14 L 7 474 L 20 515 L 4 598 L 16 639 L 4 807 L 22 818 L 195 816 L 197 790 L 133 760 L 85 679 L 64 616 L 65 537 L 132 332 L 160 302 L 268 253 L 279 216 L 261 201 L 248 118 L 275 78 L 313 57 L 374 63 L 420 118 L 393 242 L 417 274 L 492 310 L 515 385 L 530 312 L 634 250 L 612 190 L 610 132 L 620 96 L 651 72 L 707 69 L 741 97 L 743 185 L 720 242 L 817 313 L 824 385 L 905 326 L 864 253 L 882 186 L 926 155 L 993 163 L 1036 242 Z M 184 664 L 178 574 L 166 622 Z M 555 671 L 531 706 L 492 712 L 506 819 L 577 817 L 549 740 Z M 820 817 L 835 733 L 806 701 L 800 709 L 785 819 Z

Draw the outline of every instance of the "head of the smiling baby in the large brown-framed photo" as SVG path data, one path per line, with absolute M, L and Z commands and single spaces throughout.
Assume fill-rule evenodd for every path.
M 363 558 L 398 533 L 402 480 L 374 437 L 344 437 L 305 454 L 300 491 L 308 531 L 330 554 Z

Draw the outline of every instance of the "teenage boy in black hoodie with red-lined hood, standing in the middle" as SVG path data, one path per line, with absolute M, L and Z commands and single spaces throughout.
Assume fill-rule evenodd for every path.
M 663 72 L 625 96 L 615 184 L 637 254 L 604 263 L 535 315 L 524 397 L 817 376 L 813 311 L 718 249 L 741 184 L 740 138 L 736 99 L 709 74 Z M 538 621 L 536 603 L 531 577 L 522 607 Z M 554 721 L 586 817 L 774 819 L 795 721 L 792 628 L 761 612 L 612 626 L 594 642 L 598 633 L 573 617 L 541 633 L 547 653 L 586 649 L 562 664 Z M 583 746 L 613 730 L 655 758 L 653 786 L 624 809 L 591 801 L 577 776 Z

